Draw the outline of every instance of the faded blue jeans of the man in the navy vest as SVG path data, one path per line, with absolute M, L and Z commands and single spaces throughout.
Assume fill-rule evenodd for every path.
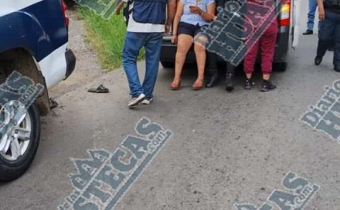
M 156 84 L 159 57 L 162 47 L 163 33 L 135 33 L 127 32 L 123 49 L 123 67 L 128 77 L 130 94 L 132 97 L 145 94 L 147 99 L 153 97 L 154 85 Z M 140 49 L 145 47 L 145 77 L 140 84 L 140 77 L 137 71 L 137 57 Z

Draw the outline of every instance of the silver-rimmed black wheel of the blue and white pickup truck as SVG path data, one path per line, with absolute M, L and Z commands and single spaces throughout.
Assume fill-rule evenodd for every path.
M 13 104 L 13 101 L 8 103 Z M 23 175 L 33 162 L 38 149 L 40 139 L 38 106 L 34 103 L 29 109 L 23 108 L 21 111 L 18 123 L 9 126 L 6 134 L 0 138 L 0 181 L 8 182 Z M 1 118 L 4 112 L 4 109 L 1 109 Z

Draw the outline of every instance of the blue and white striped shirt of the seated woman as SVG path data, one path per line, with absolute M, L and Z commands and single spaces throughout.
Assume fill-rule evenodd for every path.
M 215 0 L 181 0 L 181 2 L 184 6 L 181 22 L 189 23 L 195 26 L 197 24 L 199 26 L 209 25 L 209 23 L 204 21 L 199 14 L 191 13 L 189 6 L 198 6 L 204 12 L 207 12 L 208 5 L 214 4 Z

